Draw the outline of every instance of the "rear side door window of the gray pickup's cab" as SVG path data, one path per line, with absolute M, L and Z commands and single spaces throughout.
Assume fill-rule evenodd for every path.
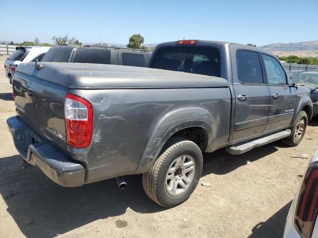
M 236 54 L 240 83 L 263 83 L 263 74 L 257 52 L 239 50 Z

